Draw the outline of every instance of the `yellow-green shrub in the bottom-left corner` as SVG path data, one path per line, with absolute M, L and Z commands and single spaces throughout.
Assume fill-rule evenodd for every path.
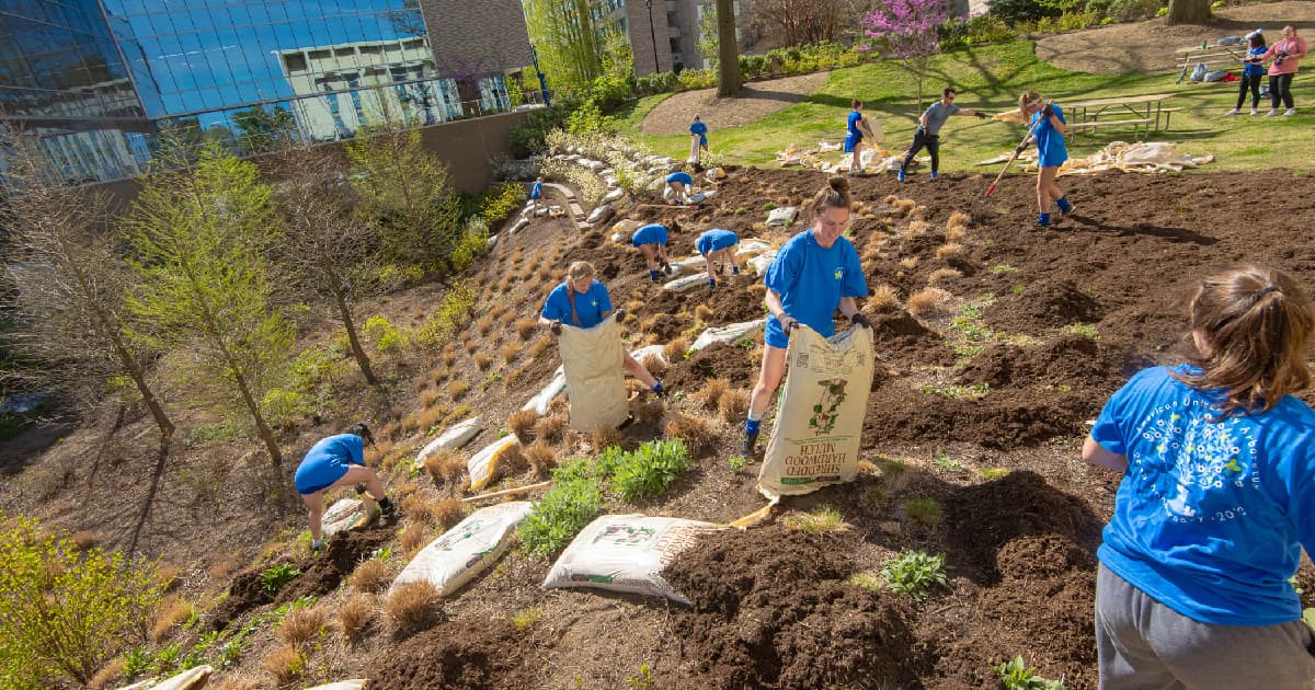
M 154 564 L 85 553 L 36 520 L 0 513 L 0 678 L 7 687 L 85 685 L 129 640 L 145 637 L 163 585 Z

